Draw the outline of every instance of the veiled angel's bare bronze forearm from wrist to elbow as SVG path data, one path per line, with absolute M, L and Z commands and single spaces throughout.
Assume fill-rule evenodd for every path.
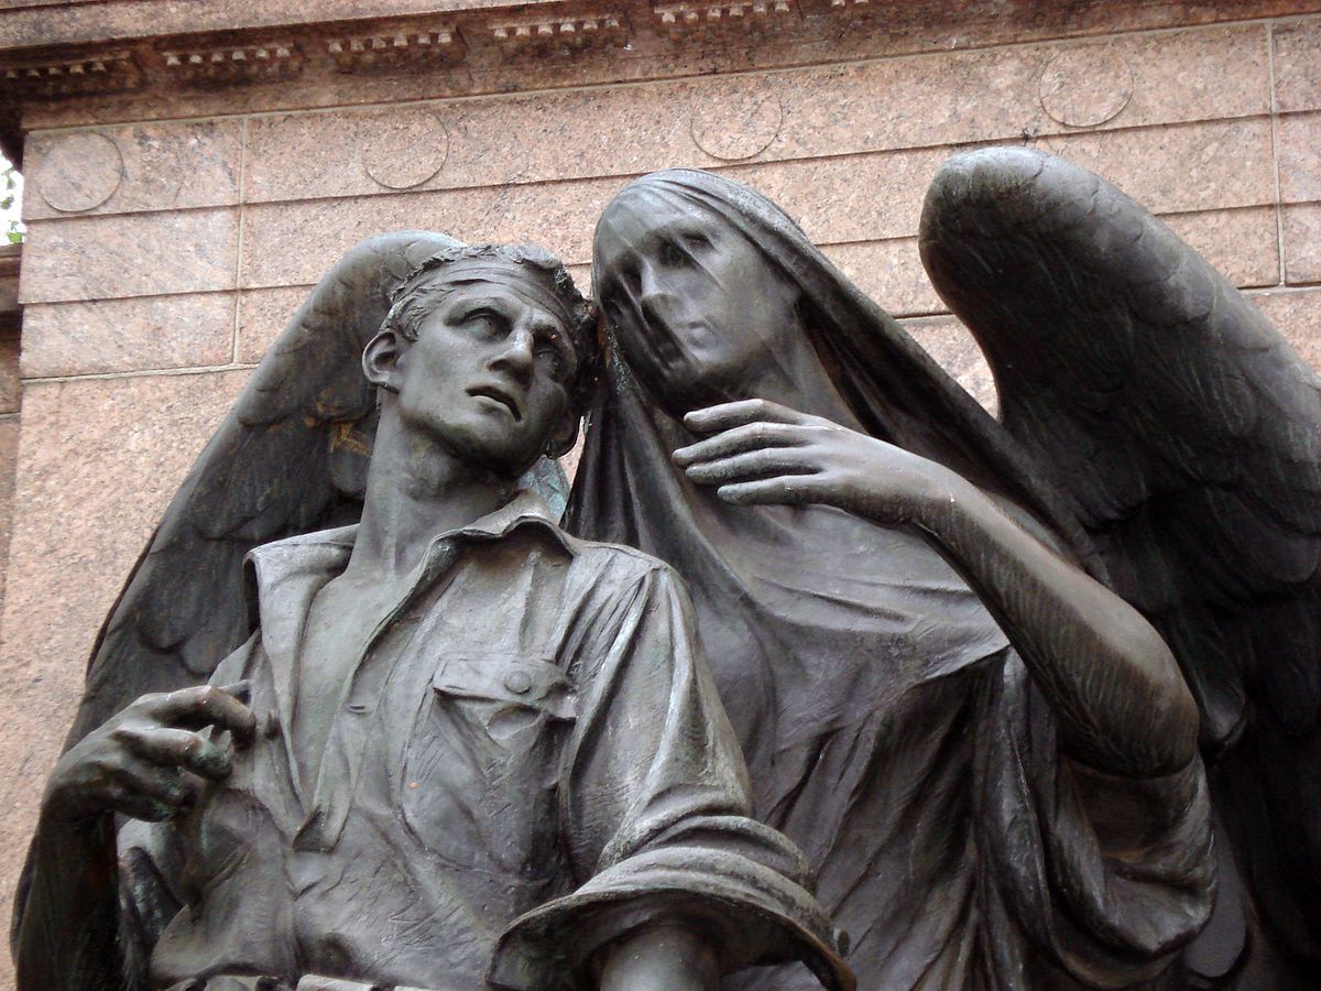
M 1136 609 L 952 472 L 939 476 L 918 523 L 1004 628 L 1075 757 L 1131 777 L 1170 773 L 1193 758 L 1196 703 Z

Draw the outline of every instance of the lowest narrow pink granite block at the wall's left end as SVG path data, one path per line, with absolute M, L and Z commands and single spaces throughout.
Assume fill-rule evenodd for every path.
M 24 311 L 26 378 L 227 365 L 234 292 L 34 304 Z

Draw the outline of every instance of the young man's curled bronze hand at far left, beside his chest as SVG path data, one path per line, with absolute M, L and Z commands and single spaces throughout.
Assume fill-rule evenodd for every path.
M 240 699 L 246 682 L 143 695 L 71 747 L 50 776 L 44 815 L 66 823 L 107 813 L 161 822 L 197 801 L 202 778 L 222 781 L 232 758 L 205 727 L 252 741 L 256 717 Z

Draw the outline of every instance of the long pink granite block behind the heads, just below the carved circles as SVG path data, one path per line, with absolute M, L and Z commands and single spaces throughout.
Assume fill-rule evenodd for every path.
M 1157 213 L 1273 202 L 1268 120 L 1071 135 L 1042 147 L 1099 172 Z M 779 202 L 822 243 L 917 233 L 922 197 L 955 149 L 736 165 L 727 173 Z M 1177 181 L 1176 181 L 1177 178 Z M 314 283 L 370 234 L 429 229 L 464 240 L 531 240 L 565 262 L 590 259 L 590 234 L 624 178 L 404 193 L 244 211 L 242 285 Z

